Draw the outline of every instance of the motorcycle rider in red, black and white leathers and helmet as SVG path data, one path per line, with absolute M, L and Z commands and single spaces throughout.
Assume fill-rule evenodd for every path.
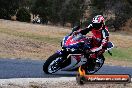
M 90 55 L 91 59 L 96 59 L 99 55 L 105 52 L 107 48 L 107 43 L 109 41 L 109 31 L 105 26 L 104 17 L 102 15 L 97 15 L 93 18 L 92 23 L 83 30 L 76 31 L 76 33 L 81 33 L 86 35 L 89 31 L 92 32 L 92 48 L 88 51 L 88 53 L 92 53 Z

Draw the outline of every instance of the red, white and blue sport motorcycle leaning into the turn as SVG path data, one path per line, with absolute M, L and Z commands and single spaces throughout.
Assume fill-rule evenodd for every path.
M 94 68 L 91 70 L 90 53 L 86 53 L 86 49 L 91 48 L 91 39 L 81 33 L 75 35 L 74 31 L 76 30 L 63 38 L 61 42 L 62 50 L 58 50 L 45 61 L 43 71 L 46 74 L 53 74 L 58 70 L 76 71 L 80 66 L 85 67 L 86 74 L 94 74 L 103 66 L 105 58 L 102 54 L 92 60 Z M 113 47 L 114 44 L 108 42 L 105 52 L 108 51 L 111 55 L 110 49 Z

